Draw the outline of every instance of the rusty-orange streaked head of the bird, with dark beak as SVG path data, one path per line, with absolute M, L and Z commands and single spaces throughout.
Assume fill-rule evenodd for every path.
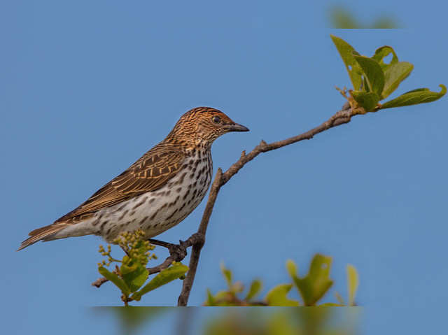
M 197 107 L 181 116 L 169 137 L 188 146 L 211 145 L 216 138 L 230 131 L 248 130 L 215 108 Z

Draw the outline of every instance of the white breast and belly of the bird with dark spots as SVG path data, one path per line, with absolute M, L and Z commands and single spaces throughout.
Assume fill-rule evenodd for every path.
M 195 164 L 197 159 L 200 162 Z M 151 238 L 181 222 L 200 204 L 211 182 L 211 157 L 188 158 L 187 162 L 190 160 L 193 163 L 159 190 L 99 210 L 85 222 L 90 234 L 101 235 L 110 243 L 122 231 L 142 229 L 146 238 Z

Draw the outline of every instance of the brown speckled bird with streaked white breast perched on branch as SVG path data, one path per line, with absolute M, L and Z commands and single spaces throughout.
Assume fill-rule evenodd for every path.
M 191 109 L 162 142 L 73 211 L 29 232 L 18 250 L 37 241 L 90 234 L 107 243 L 124 231 L 141 229 L 144 238 L 161 234 L 185 219 L 207 193 L 216 138 L 248 130 L 218 109 Z

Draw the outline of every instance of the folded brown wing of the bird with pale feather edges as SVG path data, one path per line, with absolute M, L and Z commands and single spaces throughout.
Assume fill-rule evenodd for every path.
M 184 159 L 185 154 L 181 150 L 156 145 L 120 176 L 104 185 L 85 203 L 55 223 L 82 220 L 101 208 L 116 205 L 145 192 L 158 190 L 179 172 Z

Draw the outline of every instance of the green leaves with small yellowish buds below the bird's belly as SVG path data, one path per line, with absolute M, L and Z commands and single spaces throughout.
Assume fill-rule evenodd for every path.
M 120 234 L 113 242 L 120 245 L 126 253 L 121 260 L 111 256 L 111 245 L 107 246 L 107 251 L 102 245 L 99 246 L 99 252 L 107 257 L 107 261 L 103 260 L 98 264 L 98 271 L 120 289 L 122 293 L 121 299 L 125 306 L 130 301 L 139 301 L 144 294 L 172 280 L 181 278 L 188 271 L 188 266 L 173 262 L 172 266 L 160 271 L 157 276 L 153 277 L 148 284 L 142 287 L 149 276 L 146 264 L 148 264 L 150 259 L 157 258 L 151 253 L 155 246 L 148 241 L 144 241 L 143 238 L 144 232 L 141 230 Z M 109 266 L 112 262 L 120 263 L 120 266 L 116 265 L 116 269 L 113 272 L 106 269 L 106 266 Z

